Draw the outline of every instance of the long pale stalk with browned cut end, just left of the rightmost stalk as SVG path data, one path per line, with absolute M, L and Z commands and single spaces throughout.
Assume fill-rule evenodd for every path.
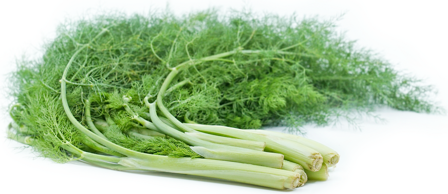
M 318 171 L 323 163 L 322 155 L 318 151 L 308 148 L 302 144 L 292 142 L 291 140 L 225 126 L 209 126 L 199 124 L 184 125 L 205 133 L 266 142 L 266 151 L 282 153 L 285 155 L 286 160 L 300 164 L 305 169 L 310 171 Z

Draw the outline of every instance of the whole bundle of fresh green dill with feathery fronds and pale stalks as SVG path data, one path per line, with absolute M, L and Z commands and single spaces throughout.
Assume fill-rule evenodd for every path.
M 11 76 L 8 137 L 61 163 L 278 189 L 326 179 L 334 150 L 241 129 L 299 130 L 378 105 L 439 110 L 431 86 L 334 31 L 332 21 L 215 10 L 67 23 L 42 60 L 18 63 Z

